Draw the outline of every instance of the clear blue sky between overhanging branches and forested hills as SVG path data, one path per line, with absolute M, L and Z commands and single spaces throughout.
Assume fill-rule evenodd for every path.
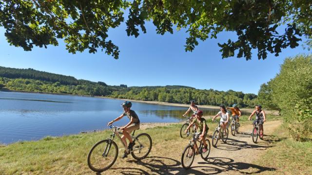
M 153 24 L 147 23 L 146 28 L 147 33 L 137 38 L 127 36 L 125 23 L 109 31 L 109 39 L 120 50 L 116 60 L 104 52 L 68 53 L 62 40 L 57 47 L 25 52 L 22 48 L 9 46 L 4 29 L 0 27 L 0 66 L 33 68 L 108 85 L 183 85 L 257 94 L 260 85 L 279 72 L 286 57 L 311 53 L 300 45 L 282 50 L 278 57 L 269 54 L 266 60 L 258 60 L 256 52 L 249 61 L 236 57 L 222 59 L 217 43 L 235 38 L 234 33 L 224 32 L 217 39 L 200 41 L 193 52 L 185 52 L 188 36 L 185 31 L 157 35 Z

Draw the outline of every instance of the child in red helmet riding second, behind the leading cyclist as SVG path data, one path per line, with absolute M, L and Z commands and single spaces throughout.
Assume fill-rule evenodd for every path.
M 200 136 L 199 136 L 199 140 L 202 140 L 202 142 L 204 143 L 204 149 L 203 149 L 203 152 L 207 152 L 207 143 L 206 143 L 206 135 L 208 133 L 208 125 L 206 123 L 206 120 L 204 118 L 202 118 L 203 116 L 203 111 L 202 110 L 198 110 L 196 113 L 195 113 L 195 120 L 193 120 L 192 123 L 189 124 L 189 126 L 187 127 L 187 129 L 184 131 L 185 133 L 187 133 L 187 131 L 190 129 L 191 126 L 193 126 L 193 124 L 195 123 L 196 127 L 198 128 L 197 129 L 197 132 L 200 133 Z M 194 145 L 194 149 L 196 150 L 195 148 L 195 145 Z

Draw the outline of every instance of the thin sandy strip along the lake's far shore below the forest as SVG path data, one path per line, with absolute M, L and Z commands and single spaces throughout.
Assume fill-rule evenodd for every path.
M 4 92 L 22 92 L 22 93 L 39 93 L 39 94 L 49 94 L 49 95 L 70 95 L 70 96 L 79 96 L 79 97 L 91 97 L 91 98 L 105 98 L 105 99 L 113 99 L 113 100 L 124 100 L 124 101 L 132 101 L 138 103 L 145 104 L 153 104 L 153 105 L 169 105 L 169 106 L 179 106 L 179 107 L 189 107 L 188 104 L 176 104 L 176 103 L 168 103 L 168 102 L 157 102 L 157 101 L 143 101 L 143 100 L 132 100 L 132 99 L 121 99 L 121 98 L 112 98 L 105 96 L 88 96 L 88 95 L 78 95 L 78 94 L 64 94 L 64 93 L 51 93 L 51 92 L 33 92 L 33 91 L 23 91 L 23 90 L 9 90 L 9 89 L 0 89 L 0 91 Z M 219 109 L 219 106 L 214 105 L 197 105 L 199 108 L 205 109 Z M 254 111 L 253 108 L 239 108 L 242 111 L 252 113 Z M 265 110 L 266 114 L 279 115 L 276 110 Z

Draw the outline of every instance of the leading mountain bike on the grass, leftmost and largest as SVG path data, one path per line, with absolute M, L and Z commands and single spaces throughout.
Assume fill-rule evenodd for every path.
M 118 146 L 114 141 L 115 136 L 119 138 L 125 150 L 127 150 L 127 145 L 124 145 L 121 137 L 119 136 L 119 134 L 122 134 L 122 132 L 117 131 L 120 130 L 120 127 L 114 126 L 112 124 L 110 124 L 109 127 L 113 134 L 110 135 L 108 139 L 97 142 L 91 148 L 88 154 L 88 166 L 94 172 L 105 171 L 115 163 L 118 156 Z M 146 133 L 141 133 L 137 136 L 134 136 L 135 131 L 136 130 L 134 130 L 130 136 L 136 144 L 132 149 L 128 150 L 128 153 L 130 152 L 132 157 L 140 160 L 147 157 L 150 153 L 152 149 L 152 138 Z

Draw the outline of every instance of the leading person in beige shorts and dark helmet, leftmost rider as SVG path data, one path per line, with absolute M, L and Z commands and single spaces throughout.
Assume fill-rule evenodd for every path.
M 121 114 L 119 117 L 117 117 L 116 119 L 114 119 L 113 121 L 109 122 L 107 125 L 110 125 L 114 123 L 115 121 L 120 120 L 124 116 L 127 116 L 130 119 L 130 122 L 128 124 L 126 124 L 123 127 L 120 127 L 120 130 L 122 130 L 122 134 L 123 134 L 121 136 L 121 140 L 125 145 L 127 145 L 126 138 L 129 140 L 128 150 L 130 150 L 136 144 L 135 142 L 133 142 L 130 136 L 130 133 L 134 130 L 137 130 L 140 127 L 140 120 L 137 117 L 137 113 L 134 110 L 130 109 L 132 106 L 131 102 L 126 101 L 121 106 L 123 107 L 123 110 L 125 112 Z M 127 152 L 127 150 L 125 150 L 122 158 L 128 157 L 128 154 L 129 153 Z

